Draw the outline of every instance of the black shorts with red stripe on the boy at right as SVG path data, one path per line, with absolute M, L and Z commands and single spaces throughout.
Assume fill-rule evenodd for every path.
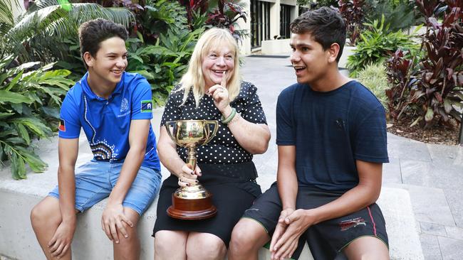
M 297 209 L 313 209 L 325 205 L 343 193 L 327 192 L 317 188 L 299 187 Z M 281 213 L 281 200 L 276 183 L 262 194 L 243 217 L 259 222 L 270 235 L 273 234 Z M 314 259 L 343 259 L 342 251 L 359 237 L 377 237 L 388 247 L 385 220 L 376 203 L 344 217 L 326 220 L 309 227 L 299 239 L 298 249 L 291 259 L 298 259 L 307 242 Z

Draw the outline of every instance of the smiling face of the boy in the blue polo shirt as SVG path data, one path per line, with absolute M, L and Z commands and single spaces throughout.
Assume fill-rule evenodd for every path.
M 115 87 L 127 67 L 125 41 L 116 36 L 103 40 L 95 57 L 85 53 L 84 59 L 93 85 Z

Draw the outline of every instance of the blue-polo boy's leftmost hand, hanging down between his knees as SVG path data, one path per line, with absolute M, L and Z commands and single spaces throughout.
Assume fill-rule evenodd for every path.
M 52 256 L 61 258 L 66 254 L 66 251 L 71 247 L 74 231 L 76 231 L 75 224 L 61 222 L 50 242 L 48 242 L 48 251 Z

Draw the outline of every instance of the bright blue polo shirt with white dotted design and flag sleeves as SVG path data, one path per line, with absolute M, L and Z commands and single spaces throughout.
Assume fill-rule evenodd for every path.
M 150 84 L 139 74 L 123 72 L 122 80 L 105 99 L 93 93 L 87 77 L 85 73 L 63 100 L 59 137 L 76 139 L 82 127 L 95 160 L 123 162 L 130 148 L 130 121 L 152 119 Z M 142 166 L 160 170 L 151 124 Z

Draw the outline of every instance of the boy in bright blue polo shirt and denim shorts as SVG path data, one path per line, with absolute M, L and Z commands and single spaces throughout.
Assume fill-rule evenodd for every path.
M 150 124 L 151 87 L 144 77 L 124 72 L 127 38 L 123 26 L 103 19 L 79 28 L 88 72 L 61 107 L 58 186 L 31 212 L 47 259 L 71 259 L 76 213 L 108 196 L 101 227 L 113 241 L 115 259 L 140 256 L 137 220 L 157 195 L 161 173 Z M 75 170 L 80 128 L 93 160 Z

